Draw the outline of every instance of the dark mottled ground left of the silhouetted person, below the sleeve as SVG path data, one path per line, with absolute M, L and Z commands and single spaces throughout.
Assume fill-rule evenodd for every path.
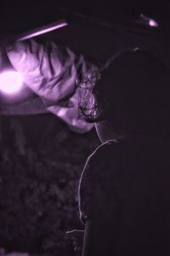
M 75 255 L 65 231 L 82 229 L 77 185 L 95 131 L 78 135 L 51 114 L 1 117 L 0 247 Z

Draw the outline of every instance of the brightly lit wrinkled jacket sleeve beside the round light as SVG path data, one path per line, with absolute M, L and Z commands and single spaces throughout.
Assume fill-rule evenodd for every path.
M 73 131 L 81 133 L 94 127 L 80 117 L 76 84 L 79 76 L 89 77 L 97 71 L 94 64 L 54 42 L 17 41 L 6 51 L 12 66 L 23 74 L 25 84 L 42 98 L 50 112 Z

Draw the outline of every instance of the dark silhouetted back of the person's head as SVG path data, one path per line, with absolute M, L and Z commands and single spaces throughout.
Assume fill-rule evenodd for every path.
M 169 136 L 169 68 L 148 51 L 128 50 L 112 57 L 94 95 L 98 120 L 109 120 L 116 132 Z

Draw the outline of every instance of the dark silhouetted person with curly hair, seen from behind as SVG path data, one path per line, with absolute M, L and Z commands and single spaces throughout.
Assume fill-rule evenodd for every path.
M 170 236 L 170 72 L 132 49 L 112 57 L 80 108 L 101 145 L 79 183 L 82 255 L 168 255 Z

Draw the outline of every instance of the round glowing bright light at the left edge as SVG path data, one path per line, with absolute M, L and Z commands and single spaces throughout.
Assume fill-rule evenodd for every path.
M 14 93 L 20 90 L 23 84 L 21 73 L 16 71 L 6 71 L 0 73 L 0 90 L 5 93 Z

